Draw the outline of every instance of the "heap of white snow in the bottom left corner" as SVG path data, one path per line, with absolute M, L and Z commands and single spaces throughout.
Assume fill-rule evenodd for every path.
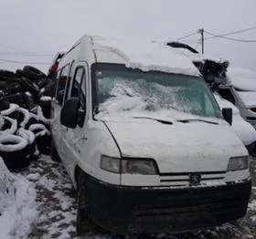
M 0 158 L 0 234 L 1 238 L 27 238 L 37 218 L 37 192 L 27 179 L 12 175 Z

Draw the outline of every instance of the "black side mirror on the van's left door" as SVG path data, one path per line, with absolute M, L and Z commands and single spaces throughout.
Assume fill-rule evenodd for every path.
M 60 111 L 60 123 L 68 128 L 75 129 L 78 121 L 80 99 L 68 99 Z

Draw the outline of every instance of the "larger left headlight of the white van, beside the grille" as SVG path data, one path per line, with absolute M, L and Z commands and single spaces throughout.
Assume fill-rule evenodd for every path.
M 151 159 L 118 159 L 101 155 L 101 169 L 126 174 L 158 174 L 156 163 Z

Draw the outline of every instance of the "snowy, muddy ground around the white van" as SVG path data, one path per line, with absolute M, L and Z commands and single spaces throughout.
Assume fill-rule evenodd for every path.
M 256 161 L 251 159 L 253 188 L 245 218 L 234 223 L 191 234 L 151 234 L 135 238 L 241 239 L 256 238 Z M 42 156 L 29 168 L 14 173 L 16 200 L 0 216 L 0 239 L 108 239 L 108 233 L 75 233 L 76 192 L 61 162 Z M 9 235 L 7 235 L 9 233 Z M 129 236 L 126 236 L 129 238 Z

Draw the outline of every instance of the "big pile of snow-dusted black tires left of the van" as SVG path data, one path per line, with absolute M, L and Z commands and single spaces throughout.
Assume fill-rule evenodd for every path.
M 10 170 L 49 154 L 50 100 L 55 81 L 37 68 L 0 70 L 0 157 Z

